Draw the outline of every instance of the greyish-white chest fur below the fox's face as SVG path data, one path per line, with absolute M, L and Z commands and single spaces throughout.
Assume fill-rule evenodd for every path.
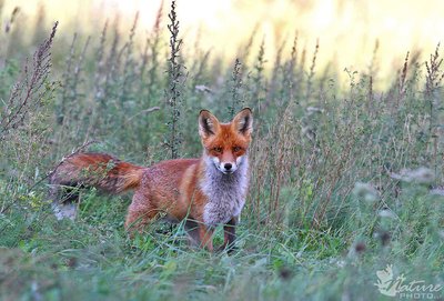
M 205 177 L 200 183 L 209 200 L 203 210 L 203 221 L 206 225 L 215 227 L 241 213 L 249 184 L 249 160 L 244 155 L 238 170 L 231 174 L 219 171 L 209 158 L 205 158 Z

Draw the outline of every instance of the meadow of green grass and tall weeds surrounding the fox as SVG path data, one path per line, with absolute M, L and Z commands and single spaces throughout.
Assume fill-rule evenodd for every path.
M 148 33 L 137 14 L 125 31 L 110 19 L 71 36 L 23 29 L 19 13 L 0 13 L 1 300 L 393 300 L 407 299 L 396 280 L 444 285 L 440 46 L 406 49 L 381 89 L 377 43 L 342 80 L 317 68 L 322 38 L 303 47 L 295 33 L 269 60 L 253 31 L 221 58 L 188 42 L 169 2 Z M 75 221 L 52 214 L 63 157 L 200 157 L 199 111 L 228 121 L 244 107 L 251 184 L 232 254 L 190 247 L 183 224 L 129 238 L 131 193 L 81 190 Z M 387 267 L 396 297 L 375 284 Z

